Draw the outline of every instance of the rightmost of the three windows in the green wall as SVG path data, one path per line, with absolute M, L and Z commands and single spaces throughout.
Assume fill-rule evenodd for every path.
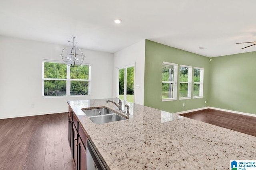
M 194 92 L 193 98 L 203 97 L 204 68 L 194 67 Z

